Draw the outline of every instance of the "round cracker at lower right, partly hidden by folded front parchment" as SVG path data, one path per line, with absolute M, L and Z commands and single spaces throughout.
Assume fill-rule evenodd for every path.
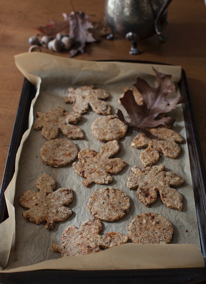
M 129 238 L 138 244 L 168 244 L 173 236 L 173 226 L 164 216 L 143 213 L 134 217 L 128 226 Z

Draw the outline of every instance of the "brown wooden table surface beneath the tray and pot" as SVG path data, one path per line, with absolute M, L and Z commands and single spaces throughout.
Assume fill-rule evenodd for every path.
M 91 20 L 104 15 L 102 0 L 73 0 L 76 11 L 95 14 Z M 72 11 L 70 1 L 7 0 L 0 3 L 0 180 L 9 149 L 23 76 L 14 64 L 14 55 L 28 51 L 28 38 L 35 28 L 50 18 L 61 20 L 62 12 Z M 165 62 L 181 65 L 188 76 L 197 130 L 206 162 L 206 7 L 203 0 L 173 0 L 169 7 L 169 24 L 164 34 L 166 43 L 157 36 L 139 42 L 139 55 L 129 55 L 130 43 L 121 38 L 102 39 L 91 43 L 76 59 L 129 59 Z M 47 53 L 53 53 L 44 50 Z M 56 54 L 57 53 L 53 53 Z M 60 56 L 69 57 L 66 53 Z

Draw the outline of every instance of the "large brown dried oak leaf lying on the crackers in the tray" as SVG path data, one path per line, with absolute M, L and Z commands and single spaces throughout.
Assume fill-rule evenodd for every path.
M 178 97 L 166 100 L 167 95 L 175 91 L 175 86 L 171 83 L 172 76 L 157 72 L 154 68 L 153 70 L 157 79 L 157 85 L 154 88 L 144 79 L 139 77 L 136 78 L 136 83 L 133 83 L 142 95 L 143 105 L 138 105 L 136 103 L 132 90 L 126 91 L 124 97 L 120 99 L 122 105 L 129 114 L 130 122 L 125 120 L 123 113 L 119 109 L 116 112 L 116 118 L 119 118 L 128 126 L 142 130 L 147 137 L 157 139 L 158 137 L 154 136 L 146 128 L 160 125 L 173 125 L 175 122 L 174 118 L 158 118 L 157 116 L 159 114 L 170 112 L 177 104 L 183 102 L 183 98 Z

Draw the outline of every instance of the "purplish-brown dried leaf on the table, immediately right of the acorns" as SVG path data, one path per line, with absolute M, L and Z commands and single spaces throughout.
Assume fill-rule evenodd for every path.
M 93 28 L 91 22 L 87 21 L 88 15 L 84 12 L 72 12 L 68 18 L 70 22 L 70 37 L 74 37 L 77 44 L 70 50 L 73 57 L 78 51 L 84 52 L 86 42 L 96 41 L 88 29 Z

